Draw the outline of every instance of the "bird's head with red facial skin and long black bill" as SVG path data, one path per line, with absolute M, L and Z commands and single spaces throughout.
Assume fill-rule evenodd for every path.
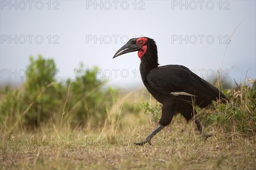
M 128 52 L 138 51 L 138 56 L 140 59 L 142 59 L 142 57 L 147 54 L 148 51 L 153 49 L 157 54 L 157 46 L 153 39 L 148 37 L 132 38 L 116 52 L 113 58 Z

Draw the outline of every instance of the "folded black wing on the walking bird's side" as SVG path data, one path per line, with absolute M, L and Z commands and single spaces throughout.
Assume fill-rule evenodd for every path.
M 215 86 L 209 84 L 185 66 L 167 65 L 152 69 L 147 76 L 148 84 L 156 91 L 169 94 L 186 92 L 207 100 L 216 101 L 219 97 L 227 97 Z

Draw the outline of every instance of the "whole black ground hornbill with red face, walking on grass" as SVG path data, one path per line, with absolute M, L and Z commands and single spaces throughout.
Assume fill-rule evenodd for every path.
M 202 133 L 202 126 L 193 104 L 203 108 L 212 104 L 212 101 L 220 100 L 221 103 L 226 103 L 228 98 L 185 66 L 158 66 L 157 45 L 151 38 L 132 38 L 116 52 L 113 58 L 135 51 L 138 51 L 141 60 L 140 74 L 143 84 L 148 92 L 163 104 L 160 125 L 142 142 L 135 144 L 151 145 L 151 138 L 170 124 L 177 113 L 181 113 L 187 121 L 193 118 L 199 132 L 206 138 L 212 136 Z

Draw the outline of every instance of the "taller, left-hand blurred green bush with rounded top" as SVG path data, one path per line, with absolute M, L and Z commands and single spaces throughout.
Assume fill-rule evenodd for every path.
M 24 92 L 20 101 L 25 104 L 34 102 L 32 108 L 26 113 L 23 121 L 36 127 L 40 122 L 45 122 L 51 114 L 56 114 L 62 99 L 65 87 L 57 83 L 58 69 L 52 59 L 38 59 L 30 57 L 26 82 L 23 84 Z

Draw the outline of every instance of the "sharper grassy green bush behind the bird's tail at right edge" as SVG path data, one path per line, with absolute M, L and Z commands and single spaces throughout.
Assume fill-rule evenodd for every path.
M 224 132 L 256 133 L 256 81 L 240 84 L 224 94 L 230 98 L 227 105 L 218 104 L 204 120 L 220 126 Z

